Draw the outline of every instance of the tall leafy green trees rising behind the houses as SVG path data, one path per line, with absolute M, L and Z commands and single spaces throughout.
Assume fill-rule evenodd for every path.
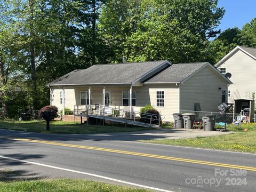
M 220 34 L 224 13 L 218 0 L 0 0 L 0 106 L 9 117 L 41 109 L 47 83 L 96 63 L 214 64 L 255 47 L 256 19 Z

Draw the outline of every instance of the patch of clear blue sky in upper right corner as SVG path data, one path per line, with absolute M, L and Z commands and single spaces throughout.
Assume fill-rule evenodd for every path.
M 226 13 L 221 19 L 218 29 L 238 27 L 256 17 L 256 0 L 219 0 L 219 7 L 224 7 Z

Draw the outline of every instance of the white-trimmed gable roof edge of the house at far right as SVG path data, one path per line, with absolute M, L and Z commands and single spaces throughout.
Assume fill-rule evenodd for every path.
M 253 47 L 244 47 L 244 46 L 236 46 L 232 51 L 225 55 L 218 63 L 215 64 L 215 67 L 220 67 L 225 61 L 227 61 L 230 57 L 232 57 L 237 51 L 242 51 L 247 54 L 249 57 L 256 60 L 256 48 Z

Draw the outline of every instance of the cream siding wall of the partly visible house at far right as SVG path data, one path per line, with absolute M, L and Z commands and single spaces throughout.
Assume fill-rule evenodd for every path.
M 230 81 L 233 85 L 228 87 L 228 102 L 234 103 L 234 99 L 251 100 L 252 93 L 256 92 L 256 60 L 239 50 L 220 67 L 225 67 L 226 73 L 232 75 Z

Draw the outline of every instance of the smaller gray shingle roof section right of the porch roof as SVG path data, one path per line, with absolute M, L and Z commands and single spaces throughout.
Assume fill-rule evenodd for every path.
M 161 73 L 148 79 L 145 83 L 179 83 L 207 63 L 208 62 L 173 64 Z

